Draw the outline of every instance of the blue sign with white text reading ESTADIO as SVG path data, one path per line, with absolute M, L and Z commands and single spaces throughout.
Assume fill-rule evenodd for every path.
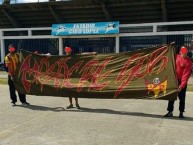
M 119 22 L 96 22 L 96 23 L 69 23 L 53 24 L 52 35 L 98 35 L 98 34 L 118 34 Z

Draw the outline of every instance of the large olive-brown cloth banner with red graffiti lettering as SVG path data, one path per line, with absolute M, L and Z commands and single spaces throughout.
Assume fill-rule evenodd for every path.
M 176 100 L 174 52 L 173 45 L 98 55 L 21 51 L 15 86 L 39 96 Z

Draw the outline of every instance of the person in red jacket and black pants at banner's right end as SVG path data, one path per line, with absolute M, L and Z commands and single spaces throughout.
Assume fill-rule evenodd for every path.
M 182 46 L 180 49 L 180 54 L 176 55 L 176 75 L 178 79 L 178 98 L 179 98 L 179 118 L 184 118 L 183 112 L 185 109 L 185 97 L 187 82 L 191 75 L 192 61 L 187 56 L 188 49 Z M 172 117 L 174 109 L 174 101 L 168 102 L 168 113 L 164 115 L 165 117 Z

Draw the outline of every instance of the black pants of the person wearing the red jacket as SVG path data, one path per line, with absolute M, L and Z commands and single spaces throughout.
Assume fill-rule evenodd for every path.
M 178 85 L 180 86 L 181 81 L 178 81 Z M 186 89 L 187 89 L 187 84 L 186 86 L 178 93 L 178 99 L 179 99 L 179 111 L 184 112 L 185 109 L 185 98 L 186 98 Z M 169 101 L 168 102 L 168 108 L 167 110 L 169 112 L 173 112 L 174 110 L 174 101 Z

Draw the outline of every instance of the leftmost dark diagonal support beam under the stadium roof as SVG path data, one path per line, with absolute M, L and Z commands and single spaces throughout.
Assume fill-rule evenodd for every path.
M 5 14 L 5 16 L 9 19 L 9 21 L 11 22 L 11 24 L 15 27 L 15 28 L 21 28 L 22 24 L 16 19 L 16 17 L 11 14 L 10 12 L 8 12 L 6 9 L 2 8 L 1 9 L 3 11 L 3 13 Z

